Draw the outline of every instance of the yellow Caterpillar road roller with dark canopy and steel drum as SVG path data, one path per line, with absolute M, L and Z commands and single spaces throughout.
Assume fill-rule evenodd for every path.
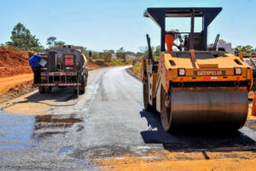
M 207 26 L 221 8 L 149 8 L 144 16 L 160 26 L 160 60 L 143 60 L 142 81 L 145 109 L 160 112 L 166 131 L 191 128 L 241 128 L 247 119 L 247 92 L 253 86 L 253 71 L 242 58 L 207 48 Z M 166 17 L 189 17 L 190 32 L 180 32 L 184 43 L 166 51 Z M 202 31 L 194 32 L 195 17 Z M 172 23 L 175 26 L 175 23 Z M 169 28 L 168 28 L 169 29 Z M 208 130 L 208 129 L 206 129 Z

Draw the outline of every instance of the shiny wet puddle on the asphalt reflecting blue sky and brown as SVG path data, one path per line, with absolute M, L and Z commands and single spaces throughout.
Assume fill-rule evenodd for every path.
M 83 130 L 83 122 L 75 114 L 23 116 L 0 111 L 0 149 L 33 148 L 43 139 Z

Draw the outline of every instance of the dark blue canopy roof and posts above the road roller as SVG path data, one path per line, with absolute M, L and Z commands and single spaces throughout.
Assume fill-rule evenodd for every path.
M 166 17 L 191 18 L 191 28 L 189 32 L 189 49 L 194 48 L 194 36 L 196 36 L 194 33 L 195 17 L 202 17 L 202 31 L 199 34 L 199 37 L 201 38 L 201 44 L 197 45 L 196 47 L 198 50 L 207 50 L 207 27 L 212 23 L 212 20 L 216 18 L 221 10 L 222 8 L 148 8 L 144 12 L 144 17 L 151 18 L 158 26 L 160 26 L 160 47 L 162 51 L 166 50 Z

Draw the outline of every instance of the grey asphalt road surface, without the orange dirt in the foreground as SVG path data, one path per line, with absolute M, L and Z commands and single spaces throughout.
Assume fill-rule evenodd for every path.
M 255 130 L 234 134 L 166 134 L 156 113 L 143 110 L 143 86 L 127 66 L 90 71 L 86 93 L 70 88 L 32 94 L 28 101 L 60 100 L 45 115 L 0 111 L 0 169 L 100 170 L 91 160 L 145 149 L 255 150 Z

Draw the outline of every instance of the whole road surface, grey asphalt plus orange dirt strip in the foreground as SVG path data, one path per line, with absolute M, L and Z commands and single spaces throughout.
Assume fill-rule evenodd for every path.
M 44 96 L 37 91 L 26 94 L 26 101 L 13 109 L 32 105 L 32 114 L 47 105 L 40 115 L 0 111 L 0 169 L 255 168 L 255 130 L 166 134 L 159 115 L 143 110 L 142 83 L 126 73 L 126 67 L 90 71 L 86 93 L 75 105 L 71 89 L 55 88 Z

